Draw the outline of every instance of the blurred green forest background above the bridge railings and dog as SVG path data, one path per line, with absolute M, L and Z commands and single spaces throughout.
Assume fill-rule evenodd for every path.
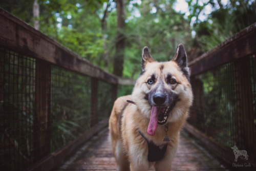
M 141 71 L 144 46 L 166 61 L 182 43 L 191 61 L 256 22 L 253 0 L 1 0 L 0 7 L 102 69 L 129 78 Z

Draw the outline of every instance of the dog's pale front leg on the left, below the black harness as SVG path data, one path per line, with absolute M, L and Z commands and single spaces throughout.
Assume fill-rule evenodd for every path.
M 133 144 L 130 148 L 130 169 L 131 171 L 147 171 L 150 169 L 150 162 L 147 161 L 146 148 Z

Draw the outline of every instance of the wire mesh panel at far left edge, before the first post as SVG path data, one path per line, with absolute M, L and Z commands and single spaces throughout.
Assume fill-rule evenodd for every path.
M 33 162 L 35 59 L 0 48 L 0 167 L 22 170 Z

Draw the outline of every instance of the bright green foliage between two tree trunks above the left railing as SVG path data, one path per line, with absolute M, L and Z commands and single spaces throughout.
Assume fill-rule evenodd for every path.
M 45 1 L 40 30 L 81 57 L 100 65 L 103 55 L 100 18 L 87 8 L 89 5 L 92 4 L 79 0 Z

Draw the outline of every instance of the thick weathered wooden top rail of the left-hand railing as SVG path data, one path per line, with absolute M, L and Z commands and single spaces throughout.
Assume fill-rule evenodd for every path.
M 0 8 L 0 46 L 57 66 L 117 83 L 118 79 Z

